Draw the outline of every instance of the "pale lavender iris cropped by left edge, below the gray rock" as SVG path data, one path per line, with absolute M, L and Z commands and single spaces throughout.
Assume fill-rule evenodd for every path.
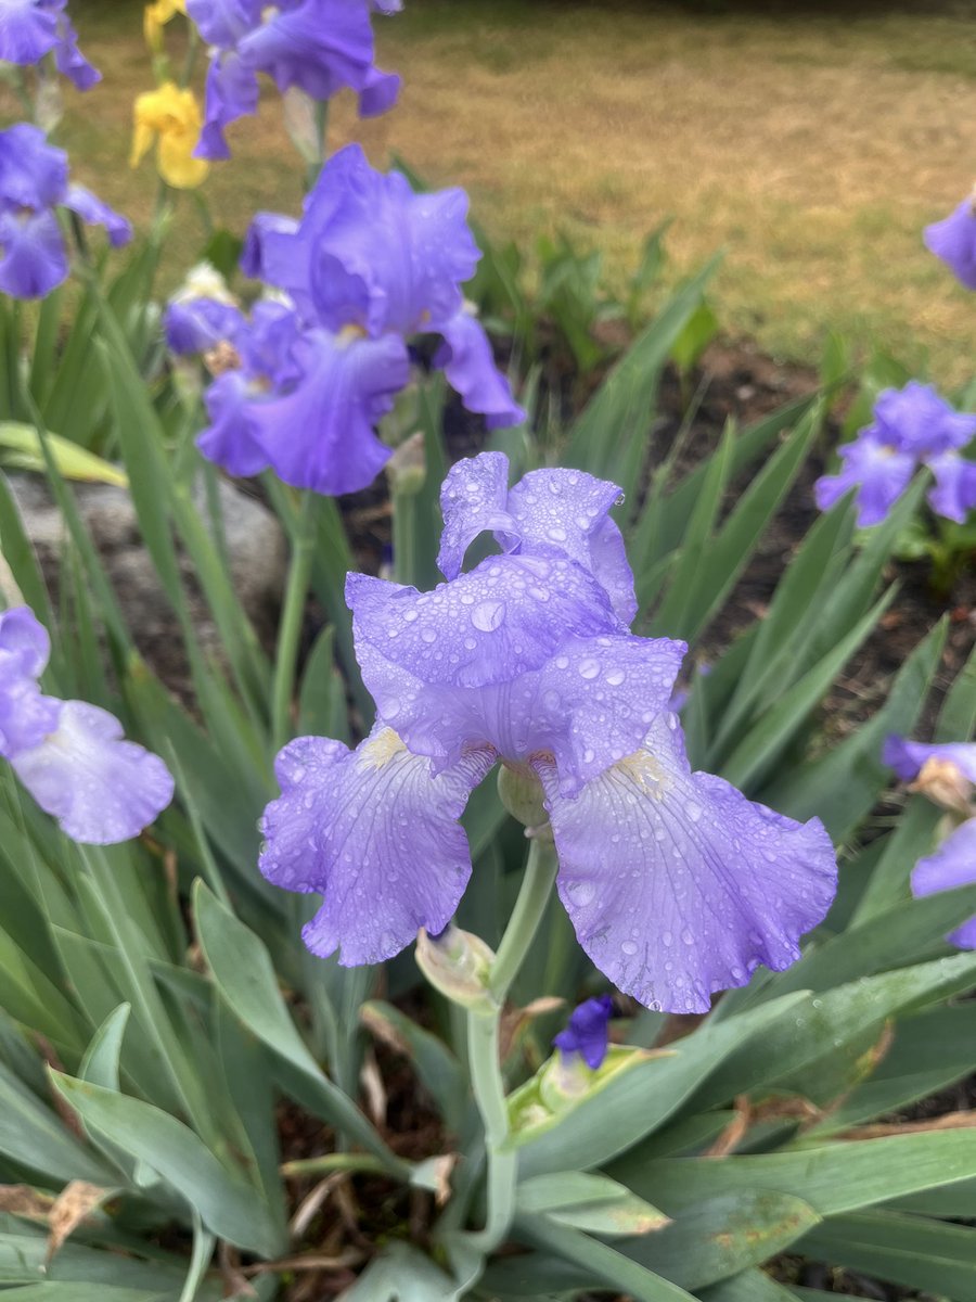
M 173 779 L 105 710 L 42 693 L 49 654 L 26 605 L 0 613 L 0 758 L 72 840 L 128 841 L 169 805 Z

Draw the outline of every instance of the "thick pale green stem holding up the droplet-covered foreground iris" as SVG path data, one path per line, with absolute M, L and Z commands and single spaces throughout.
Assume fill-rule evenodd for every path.
M 534 837 L 524 878 L 498 953 L 492 963 L 488 988 L 492 1006 L 471 1008 L 467 1013 L 467 1046 L 471 1086 L 478 1111 L 484 1122 L 488 1157 L 488 1215 L 484 1229 L 471 1236 L 471 1242 L 485 1254 L 504 1242 L 515 1215 L 518 1157 L 506 1150 L 509 1113 L 505 1103 L 505 1081 L 501 1072 L 501 1014 L 505 997 L 543 921 L 545 905 L 556 880 L 556 850 L 548 836 Z

